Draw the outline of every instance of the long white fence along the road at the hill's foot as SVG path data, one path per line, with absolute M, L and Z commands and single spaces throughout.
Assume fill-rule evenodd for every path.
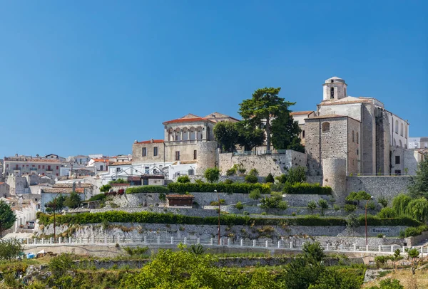
M 302 250 L 304 243 L 295 243 L 287 240 L 272 241 L 272 240 L 248 240 L 241 239 L 239 241 L 233 241 L 230 238 L 220 238 L 220 243 L 218 243 L 218 238 L 174 238 L 174 237 L 161 237 L 161 236 L 143 236 L 138 238 L 124 238 L 123 236 L 105 236 L 104 238 L 73 238 L 73 237 L 58 237 L 56 241 L 54 238 L 26 238 L 19 239 L 22 244 L 26 246 L 63 246 L 63 245 L 93 245 L 93 246 L 106 246 L 111 243 L 126 244 L 126 245 L 152 245 L 163 247 L 167 246 L 176 246 L 180 243 L 185 245 L 197 245 L 202 246 L 227 246 L 230 248 L 267 248 L 272 250 Z M 405 253 L 406 248 L 417 248 L 421 257 L 424 254 L 428 254 L 428 246 L 417 246 L 417 247 L 405 247 L 399 245 L 379 245 L 379 246 L 357 246 L 353 244 L 352 246 L 345 245 L 332 245 L 325 244 L 322 245 L 325 251 L 340 251 L 340 252 L 377 252 L 377 253 L 394 253 L 397 248 Z

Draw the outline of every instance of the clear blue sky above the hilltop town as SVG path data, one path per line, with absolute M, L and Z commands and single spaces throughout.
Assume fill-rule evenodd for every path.
M 428 136 L 428 1 L 2 1 L 0 155 L 131 153 L 165 120 L 322 83 Z

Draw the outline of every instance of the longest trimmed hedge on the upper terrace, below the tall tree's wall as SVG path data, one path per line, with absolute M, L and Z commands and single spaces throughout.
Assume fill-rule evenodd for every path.
M 260 193 L 269 194 L 270 185 L 269 184 L 244 184 L 244 183 L 170 183 L 168 184 L 168 189 L 173 193 L 183 194 L 185 192 L 201 192 L 201 193 L 213 193 L 214 190 L 217 190 L 220 193 L 240 193 L 240 194 L 250 194 L 250 191 L 253 189 L 260 189 Z

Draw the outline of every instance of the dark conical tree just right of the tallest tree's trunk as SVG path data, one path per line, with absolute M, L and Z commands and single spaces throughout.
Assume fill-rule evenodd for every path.
M 297 152 L 305 152 L 305 147 L 300 143 L 300 130 L 298 122 L 293 120 L 288 106 L 283 106 L 277 117 L 272 120 L 272 145 L 275 149 L 293 149 Z

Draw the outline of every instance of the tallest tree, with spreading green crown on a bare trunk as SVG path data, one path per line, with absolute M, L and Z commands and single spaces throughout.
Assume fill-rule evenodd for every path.
M 252 98 L 240 103 L 239 114 L 245 121 L 253 124 L 265 123 L 267 151 L 270 151 L 270 120 L 272 117 L 277 117 L 288 106 L 294 105 L 294 103 L 285 102 L 284 98 L 278 96 L 280 90 L 281 88 L 260 88 L 255 90 Z

